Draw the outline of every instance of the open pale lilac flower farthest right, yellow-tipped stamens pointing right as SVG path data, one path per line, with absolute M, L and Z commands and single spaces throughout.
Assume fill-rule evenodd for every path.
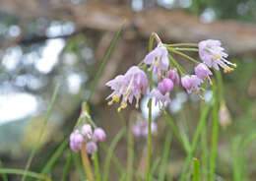
M 214 67 L 216 70 L 219 70 L 219 66 L 221 66 L 224 72 L 233 71 L 233 68 L 230 68 L 228 65 L 236 67 L 236 64 L 225 59 L 228 55 L 224 52 L 220 40 L 203 40 L 198 43 L 198 47 L 199 56 L 208 67 Z

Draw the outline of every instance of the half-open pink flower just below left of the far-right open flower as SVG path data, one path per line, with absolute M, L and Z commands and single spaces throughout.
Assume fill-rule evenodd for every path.
M 191 93 L 192 91 L 196 91 L 197 94 L 200 94 L 201 89 L 199 88 L 199 86 L 201 85 L 201 83 L 202 83 L 202 80 L 195 75 L 191 75 L 191 76 L 186 75 L 181 78 L 181 85 L 183 88 L 186 89 L 188 93 Z

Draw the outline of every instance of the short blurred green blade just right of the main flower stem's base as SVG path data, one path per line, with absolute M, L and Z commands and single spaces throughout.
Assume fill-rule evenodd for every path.
M 163 181 L 165 177 L 165 172 L 166 172 L 166 166 L 168 163 L 168 155 L 169 155 L 169 150 L 170 150 L 170 144 L 171 144 L 171 133 L 168 132 L 165 143 L 164 143 L 164 148 L 162 152 L 162 158 L 161 158 L 161 163 L 160 163 L 160 174 L 159 174 L 159 181 Z

